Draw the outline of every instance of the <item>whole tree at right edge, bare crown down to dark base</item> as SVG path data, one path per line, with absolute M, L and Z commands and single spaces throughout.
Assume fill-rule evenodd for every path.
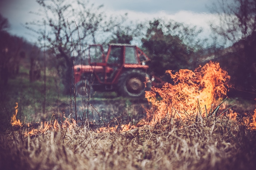
M 237 55 L 238 69 L 235 71 L 238 89 L 256 89 L 256 1 L 219 0 L 213 4 L 212 13 L 219 16 L 218 24 L 211 24 L 215 38 L 221 45 L 233 45 Z M 220 41 L 222 40 L 222 41 Z

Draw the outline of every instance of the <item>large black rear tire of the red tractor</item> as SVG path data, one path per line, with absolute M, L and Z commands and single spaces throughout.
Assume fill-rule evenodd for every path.
M 151 88 L 151 83 L 147 82 L 147 80 L 149 80 L 149 76 L 143 71 L 126 71 L 121 74 L 118 81 L 119 93 L 124 97 L 145 97 L 145 91 L 149 91 Z

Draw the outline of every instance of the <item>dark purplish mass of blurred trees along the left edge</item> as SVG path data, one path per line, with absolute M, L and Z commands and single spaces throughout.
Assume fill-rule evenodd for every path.
M 17 77 L 22 64 L 30 67 L 31 81 L 34 80 L 33 73 L 37 71 L 40 74 L 41 50 L 23 38 L 9 34 L 8 20 L 1 16 L 0 24 L 0 38 L 5 40 L 0 42 L 0 86 L 7 85 L 10 78 Z

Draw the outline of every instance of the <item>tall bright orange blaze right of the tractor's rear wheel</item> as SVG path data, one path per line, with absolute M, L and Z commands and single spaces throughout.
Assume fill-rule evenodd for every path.
M 154 120 L 161 120 L 166 115 L 184 118 L 198 111 L 206 116 L 231 86 L 230 76 L 216 62 L 200 66 L 194 72 L 180 69 L 174 74 L 170 70 L 166 73 L 171 76 L 174 85 L 165 83 L 162 88 L 152 87 L 150 92 L 146 92 L 145 97 L 156 109 L 147 115 L 147 119 L 154 117 Z

